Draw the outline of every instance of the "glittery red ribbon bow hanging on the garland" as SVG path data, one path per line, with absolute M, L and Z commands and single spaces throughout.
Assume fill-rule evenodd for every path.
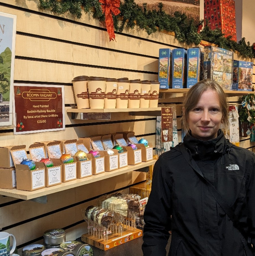
M 112 14 L 118 15 L 120 13 L 120 0 L 99 0 L 102 6 L 102 11 L 105 13 L 105 24 L 109 35 L 109 39 L 115 40 L 114 26 Z

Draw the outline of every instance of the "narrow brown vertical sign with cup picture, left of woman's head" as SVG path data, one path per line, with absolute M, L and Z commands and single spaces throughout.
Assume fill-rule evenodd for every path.
M 161 142 L 173 140 L 173 108 L 161 108 Z

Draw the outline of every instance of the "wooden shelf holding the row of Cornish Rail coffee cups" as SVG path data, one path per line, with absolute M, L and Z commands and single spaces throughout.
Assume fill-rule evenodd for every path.
M 143 112 L 143 111 L 157 111 L 161 108 L 69 108 L 66 111 L 70 113 L 112 113 L 112 112 Z

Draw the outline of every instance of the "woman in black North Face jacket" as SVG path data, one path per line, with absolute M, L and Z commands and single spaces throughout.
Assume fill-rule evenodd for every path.
M 184 143 L 163 153 L 154 166 L 144 212 L 144 255 L 166 255 L 170 230 L 169 255 L 255 255 L 247 243 L 255 242 L 255 157 L 229 143 L 220 130 L 221 123 L 228 125 L 228 105 L 218 83 L 203 80 L 189 89 L 182 123 Z M 233 208 L 238 228 L 194 165 Z

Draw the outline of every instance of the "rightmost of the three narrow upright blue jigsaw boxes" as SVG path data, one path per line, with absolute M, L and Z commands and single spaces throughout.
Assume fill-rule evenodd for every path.
M 187 88 L 191 88 L 199 81 L 200 74 L 200 50 L 190 48 L 187 51 Z

